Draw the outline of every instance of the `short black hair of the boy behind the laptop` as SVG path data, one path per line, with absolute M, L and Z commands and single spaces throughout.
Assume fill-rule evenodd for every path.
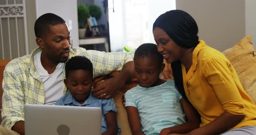
M 69 77 L 70 71 L 79 69 L 89 71 L 93 77 L 92 62 L 84 56 L 75 56 L 66 62 L 66 79 Z

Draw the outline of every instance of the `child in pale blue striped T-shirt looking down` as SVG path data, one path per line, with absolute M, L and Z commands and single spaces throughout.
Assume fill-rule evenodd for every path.
M 165 65 L 157 45 L 139 46 L 134 64 L 139 84 L 125 93 L 125 108 L 133 135 L 187 133 L 199 127 L 196 112 L 175 89 L 174 81 L 159 78 Z

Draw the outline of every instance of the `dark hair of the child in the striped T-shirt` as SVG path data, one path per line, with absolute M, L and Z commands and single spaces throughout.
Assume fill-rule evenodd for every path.
M 136 56 L 144 57 L 144 56 L 152 56 L 152 55 L 154 55 L 155 58 L 158 59 L 159 64 L 162 64 L 164 62 L 163 56 L 158 52 L 157 45 L 152 43 L 145 43 L 140 45 L 135 51 L 133 60 L 135 60 Z

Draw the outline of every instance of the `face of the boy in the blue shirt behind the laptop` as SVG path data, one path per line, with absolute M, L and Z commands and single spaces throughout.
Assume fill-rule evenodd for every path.
M 69 71 L 69 77 L 64 80 L 66 87 L 78 103 L 84 103 L 92 90 L 90 71 L 82 69 Z

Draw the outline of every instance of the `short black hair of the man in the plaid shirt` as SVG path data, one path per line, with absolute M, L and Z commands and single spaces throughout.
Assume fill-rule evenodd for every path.
M 43 33 L 49 30 L 49 26 L 56 26 L 58 24 L 66 23 L 64 19 L 53 13 L 46 13 L 36 19 L 35 35 L 36 38 L 41 38 Z

